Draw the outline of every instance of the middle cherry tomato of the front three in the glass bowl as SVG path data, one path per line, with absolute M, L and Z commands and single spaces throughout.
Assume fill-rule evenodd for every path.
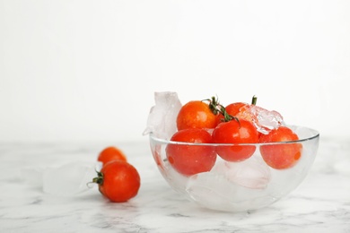
M 247 120 L 232 119 L 217 125 L 213 132 L 214 143 L 256 143 L 258 131 Z M 227 161 L 247 160 L 256 150 L 255 145 L 223 145 L 216 147 L 217 154 Z

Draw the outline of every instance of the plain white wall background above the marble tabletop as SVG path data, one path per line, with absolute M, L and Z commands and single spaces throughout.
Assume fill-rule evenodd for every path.
M 0 0 L 0 142 L 146 140 L 154 91 L 350 135 L 350 1 Z

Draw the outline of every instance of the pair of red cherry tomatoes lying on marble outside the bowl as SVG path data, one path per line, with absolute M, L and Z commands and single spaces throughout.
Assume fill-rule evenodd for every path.
M 101 171 L 92 182 L 99 185 L 101 194 L 113 203 L 124 203 L 136 196 L 140 188 L 140 176 L 127 156 L 117 147 L 110 146 L 99 154 Z

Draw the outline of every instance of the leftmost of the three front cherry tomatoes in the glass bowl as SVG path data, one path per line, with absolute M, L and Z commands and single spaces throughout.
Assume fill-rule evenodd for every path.
M 210 143 L 212 136 L 204 129 L 188 128 L 171 137 L 173 142 Z M 166 155 L 171 166 L 185 176 L 209 171 L 214 167 L 216 153 L 210 145 L 170 143 Z

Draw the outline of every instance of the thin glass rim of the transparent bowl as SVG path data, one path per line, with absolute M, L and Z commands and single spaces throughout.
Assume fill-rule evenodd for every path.
M 307 142 L 314 140 L 316 138 L 319 138 L 319 131 L 302 126 L 302 125 L 286 125 L 288 127 L 302 127 L 309 129 L 312 132 L 312 135 L 309 137 L 301 138 L 299 140 L 294 141 L 285 141 L 285 142 L 257 142 L 257 143 L 198 143 L 198 142 L 175 142 L 167 139 L 162 139 L 159 137 L 156 137 L 153 132 L 150 132 L 149 138 L 150 140 L 153 140 L 155 142 L 161 142 L 163 144 L 178 144 L 178 145 L 203 145 L 203 146 L 248 146 L 248 145 L 254 145 L 254 146 L 261 146 L 261 145 L 278 145 L 278 144 L 291 144 L 291 143 L 301 143 L 301 142 Z

